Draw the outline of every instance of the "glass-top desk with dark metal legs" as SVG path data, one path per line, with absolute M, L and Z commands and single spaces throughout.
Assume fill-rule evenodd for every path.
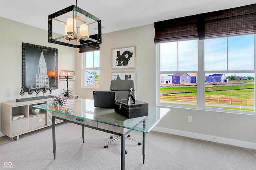
M 132 130 L 142 132 L 142 158 L 145 160 L 145 133 L 148 133 L 170 111 L 167 108 L 148 107 L 148 116 L 127 119 L 119 115 L 114 109 L 94 107 L 93 100 L 74 99 L 72 105 L 54 107 L 52 103 L 33 106 L 52 111 L 52 141 L 54 159 L 56 158 L 55 118 L 82 126 L 82 140 L 84 143 L 84 127 L 104 131 L 121 138 L 121 169 L 124 170 L 125 145 L 124 137 Z

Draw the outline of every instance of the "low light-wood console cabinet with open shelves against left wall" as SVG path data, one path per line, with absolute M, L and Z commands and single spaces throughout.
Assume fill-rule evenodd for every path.
M 52 102 L 52 98 L 33 100 L 28 102 L 4 102 L 1 105 L 1 131 L 8 137 L 16 137 L 19 135 L 35 131 L 52 125 L 52 112 L 41 110 L 37 115 L 32 113 L 34 105 L 46 104 Z M 24 117 L 12 120 L 12 115 L 24 115 Z M 60 123 L 62 120 L 56 120 Z

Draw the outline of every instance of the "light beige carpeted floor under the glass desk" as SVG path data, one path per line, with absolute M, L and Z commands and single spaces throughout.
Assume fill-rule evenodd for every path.
M 52 129 L 20 135 L 18 141 L 0 137 L 0 169 L 16 170 L 119 170 L 120 140 L 104 148 L 110 134 L 72 123 L 56 125 L 56 160 Z M 132 131 L 142 141 L 142 133 Z M 126 170 L 255 170 L 256 150 L 151 131 L 146 134 L 146 158 L 142 145 L 126 140 Z M 11 164 L 9 166 L 8 164 Z

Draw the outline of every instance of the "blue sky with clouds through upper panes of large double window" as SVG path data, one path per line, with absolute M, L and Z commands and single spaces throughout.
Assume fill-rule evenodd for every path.
M 205 70 L 254 70 L 254 35 L 204 40 Z M 161 71 L 196 71 L 198 41 L 162 43 Z M 212 74 L 212 73 L 210 73 Z M 226 76 L 234 74 L 225 74 Z M 237 76 L 254 76 L 253 73 Z

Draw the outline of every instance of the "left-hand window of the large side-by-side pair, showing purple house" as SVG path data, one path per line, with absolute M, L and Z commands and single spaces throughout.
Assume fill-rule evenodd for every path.
M 160 103 L 197 106 L 198 41 L 160 43 L 158 48 L 160 76 L 170 79 L 160 84 Z

